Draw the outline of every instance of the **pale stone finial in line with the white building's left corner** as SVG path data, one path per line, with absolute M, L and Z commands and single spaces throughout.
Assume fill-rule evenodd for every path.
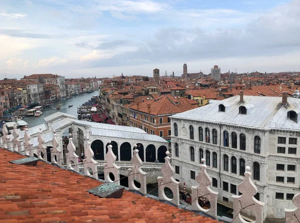
M 168 156 L 169 151 L 166 151 L 165 154 L 166 154 L 166 156 L 164 157 L 165 162 L 161 167 L 162 176 L 157 177 L 158 199 L 167 200 L 175 204 L 176 206 L 178 206 L 179 205 L 179 182 L 177 182 L 173 177 L 175 170 L 170 164 L 170 157 Z M 172 191 L 173 198 L 168 198 L 164 194 L 165 187 L 168 187 Z

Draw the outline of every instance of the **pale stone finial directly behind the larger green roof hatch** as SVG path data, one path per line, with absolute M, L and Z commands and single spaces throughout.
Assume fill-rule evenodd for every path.
M 109 140 L 110 141 L 110 140 Z M 109 143 L 108 141 L 108 143 Z M 111 141 L 110 141 L 111 143 Z M 116 184 L 120 184 L 120 173 L 119 173 L 119 166 L 117 166 L 114 161 L 116 156 L 112 152 L 112 145 L 107 145 L 107 153 L 106 153 L 106 164 L 104 164 L 104 181 L 105 182 L 114 182 Z M 109 176 L 109 173 L 112 173 L 114 176 L 114 180 L 112 180 Z

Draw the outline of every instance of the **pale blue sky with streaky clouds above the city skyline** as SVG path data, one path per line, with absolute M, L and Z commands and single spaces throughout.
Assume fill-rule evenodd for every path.
M 300 71 L 300 0 L 0 0 L 0 75 Z

